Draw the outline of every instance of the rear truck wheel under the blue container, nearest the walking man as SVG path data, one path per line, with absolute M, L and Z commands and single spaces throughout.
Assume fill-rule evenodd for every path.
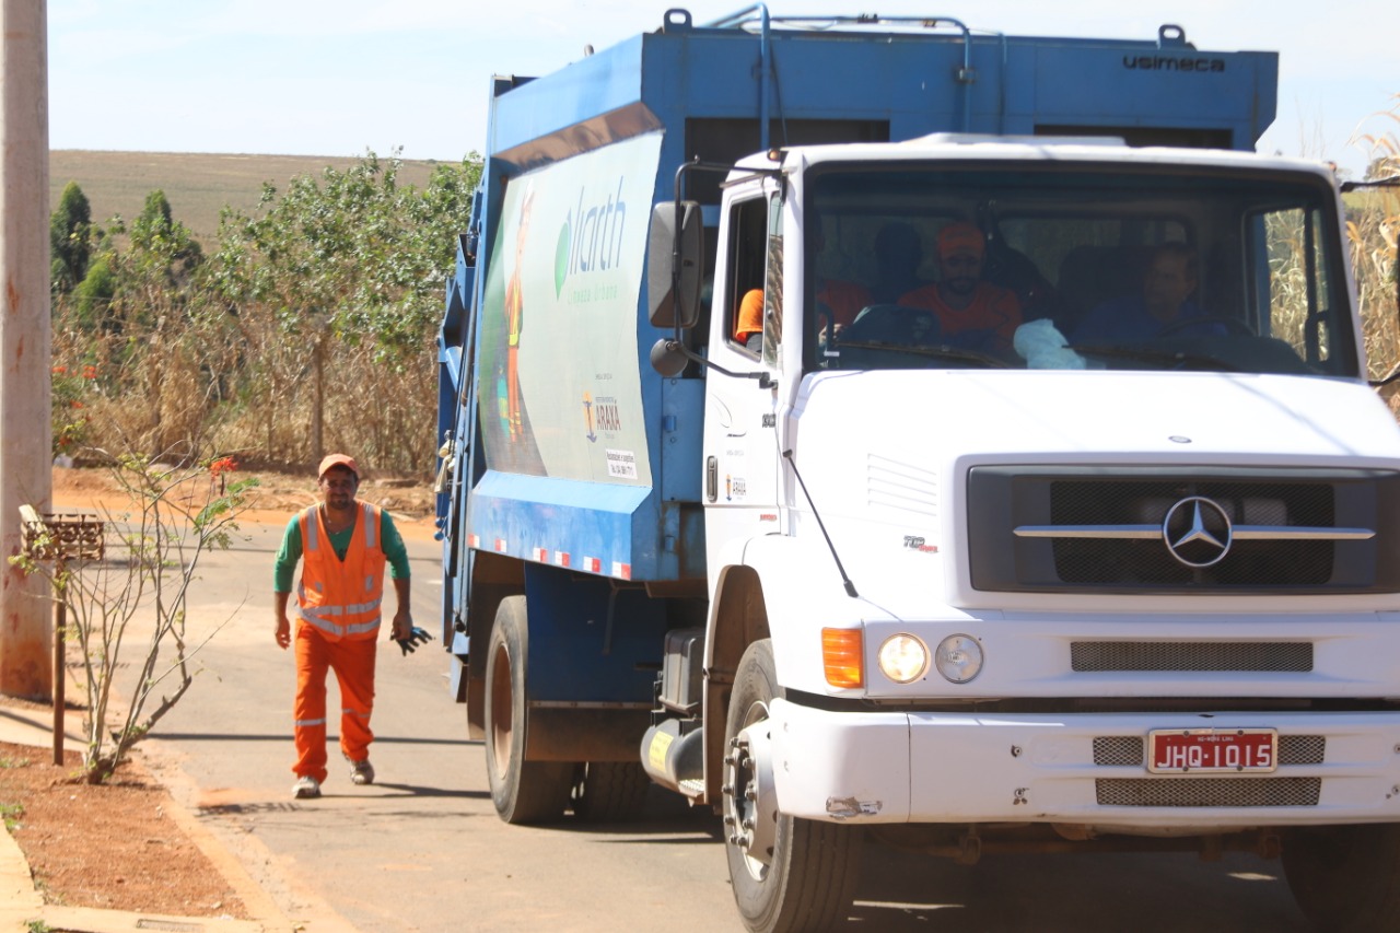
M 486 776 L 496 813 L 511 824 L 559 820 L 568 804 L 574 766 L 559 761 L 525 761 L 529 730 L 525 597 L 501 600 L 486 658 Z

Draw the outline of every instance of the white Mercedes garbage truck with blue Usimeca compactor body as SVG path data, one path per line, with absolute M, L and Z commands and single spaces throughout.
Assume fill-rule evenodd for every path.
M 756 6 L 496 77 L 437 489 L 501 820 L 680 794 L 753 930 L 868 845 L 1392 929 L 1400 433 L 1277 69 Z

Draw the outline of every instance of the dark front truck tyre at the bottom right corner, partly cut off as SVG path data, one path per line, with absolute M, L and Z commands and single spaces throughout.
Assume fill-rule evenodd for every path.
M 1319 930 L 1400 929 L 1400 824 L 1291 829 L 1282 842 L 1288 890 Z

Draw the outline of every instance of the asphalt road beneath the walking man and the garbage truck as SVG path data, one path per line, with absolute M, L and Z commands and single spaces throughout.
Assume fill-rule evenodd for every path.
M 739 930 L 718 821 L 652 789 L 650 818 L 617 828 L 508 827 L 479 742 L 447 695 L 440 644 L 379 651 L 372 761 L 350 785 L 332 747 L 321 800 L 291 799 L 290 651 L 273 642 L 280 528 L 210 553 L 190 635 L 223 628 L 190 692 L 147 742 L 216 836 L 308 933 Z M 438 629 L 437 545 L 409 542 L 419 625 Z M 392 602 L 392 597 L 386 597 Z M 134 661 L 133 661 L 134 664 Z M 335 688 L 329 706 L 336 707 Z M 851 929 L 1166 933 L 1308 929 L 1277 862 L 1228 856 L 988 856 L 976 867 L 869 850 Z

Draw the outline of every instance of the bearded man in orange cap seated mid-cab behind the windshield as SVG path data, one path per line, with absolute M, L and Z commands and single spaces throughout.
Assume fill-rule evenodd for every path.
M 1007 353 L 1021 326 L 1021 301 L 1014 291 L 981 280 L 986 255 L 981 230 L 960 220 L 945 224 L 938 231 L 939 280 L 910 291 L 899 304 L 938 315 L 942 340 L 951 346 Z

